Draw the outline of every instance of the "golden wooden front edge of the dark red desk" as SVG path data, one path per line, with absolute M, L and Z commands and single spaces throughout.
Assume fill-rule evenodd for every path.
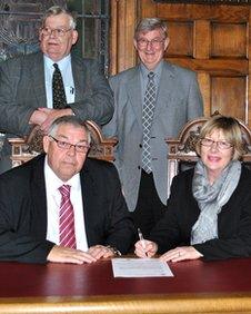
M 0 313 L 251 313 L 251 293 L 1 297 Z

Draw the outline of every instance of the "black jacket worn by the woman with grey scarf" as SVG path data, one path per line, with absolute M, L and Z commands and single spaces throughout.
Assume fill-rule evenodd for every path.
M 168 210 L 150 235 L 159 253 L 190 245 L 200 209 L 192 195 L 193 169 L 173 178 Z M 193 245 L 204 259 L 251 256 L 251 171 L 242 166 L 240 181 L 218 215 L 219 238 Z

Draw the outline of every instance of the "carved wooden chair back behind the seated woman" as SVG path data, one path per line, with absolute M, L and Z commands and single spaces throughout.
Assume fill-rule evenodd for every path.
M 218 114 L 218 112 L 215 112 Z M 214 114 L 214 115 L 215 115 Z M 182 169 L 194 166 L 198 160 L 195 154 L 195 144 L 199 140 L 201 126 L 208 120 L 205 117 L 201 117 L 189 121 L 184 125 L 180 131 L 178 138 L 168 138 L 168 195 L 170 194 L 170 187 L 172 178 Z M 239 119 L 238 119 L 239 120 Z M 239 120 L 241 125 L 243 143 L 245 154 L 242 157 L 242 161 L 251 165 L 251 131 L 244 122 Z

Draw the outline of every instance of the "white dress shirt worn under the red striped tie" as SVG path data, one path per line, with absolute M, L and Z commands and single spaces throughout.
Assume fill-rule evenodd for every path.
M 70 180 L 60 180 L 48 165 L 48 158 L 44 161 L 44 177 L 47 190 L 47 239 L 59 245 L 59 209 L 61 203 L 61 194 L 59 187 L 63 184 L 71 186 L 70 199 L 74 210 L 74 230 L 77 248 L 81 251 L 88 249 L 87 234 L 83 216 L 83 203 L 79 174 L 74 175 Z

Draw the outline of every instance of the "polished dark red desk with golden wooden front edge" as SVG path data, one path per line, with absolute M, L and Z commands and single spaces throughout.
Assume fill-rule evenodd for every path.
M 110 261 L 0 263 L 0 313 L 251 313 L 251 258 L 170 266 L 174 277 L 113 278 Z

